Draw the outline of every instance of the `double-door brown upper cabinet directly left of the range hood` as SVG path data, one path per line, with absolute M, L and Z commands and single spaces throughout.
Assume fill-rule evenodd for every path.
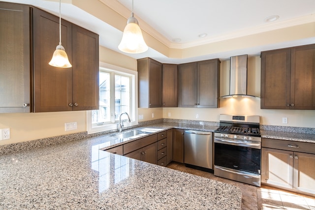
M 179 107 L 219 107 L 220 63 L 213 59 L 179 65 Z

